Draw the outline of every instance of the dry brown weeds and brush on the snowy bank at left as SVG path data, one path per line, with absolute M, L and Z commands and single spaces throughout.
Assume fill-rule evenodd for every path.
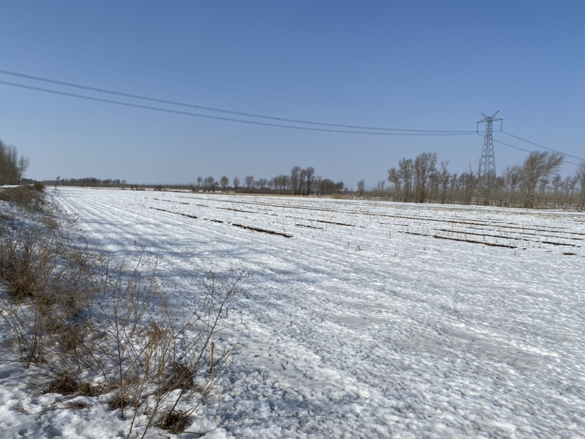
M 165 306 L 156 266 L 142 276 L 144 250 L 133 269 L 112 266 L 72 236 L 72 224 L 42 191 L 1 189 L 0 201 L 9 205 L 0 218 L 0 277 L 9 283 L 1 315 L 27 367 L 53 375 L 43 391 L 113 393 L 110 407 L 130 419 L 128 437 L 144 437 L 153 426 L 183 431 L 229 363 L 235 345 L 216 349 L 213 367 L 211 351 L 217 333 L 236 324 L 227 320 L 227 305 L 243 274 L 233 273 L 227 285 L 211 275 L 197 311 L 177 319 Z

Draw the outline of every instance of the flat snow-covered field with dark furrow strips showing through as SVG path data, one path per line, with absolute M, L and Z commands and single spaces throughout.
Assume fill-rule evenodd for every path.
M 222 402 L 194 427 L 206 438 L 585 437 L 582 213 L 105 189 L 58 200 L 91 248 L 158 259 L 175 306 L 209 271 L 252 273 Z M 29 373 L 0 365 L 1 437 L 123 435 L 115 412 L 36 395 Z

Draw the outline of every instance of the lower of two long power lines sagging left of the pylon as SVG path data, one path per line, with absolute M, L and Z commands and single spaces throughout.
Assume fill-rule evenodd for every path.
M 422 132 L 422 133 L 419 133 L 419 132 L 417 132 L 417 133 L 404 133 L 404 132 L 400 132 L 400 133 L 396 133 L 396 132 L 385 133 L 385 132 L 375 132 L 375 131 L 356 131 L 356 130 L 339 130 L 339 129 L 328 129 L 328 128 L 313 128 L 313 127 L 309 127 L 309 126 L 284 125 L 284 124 L 281 124 L 281 123 L 246 121 L 246 120 L 243 120 L 243 119 L 233 119 L 233 118 L 222 117 L 222 116 L 211 116 L 210 114 L 199 114 L 199 113 L 191 113 L 191 112 L 182 112 L 180 110 L 174 110 L 174 109 L 168 109 L 168 108 L 151 107 L 149 105 L 133 104 L 131 102 L 121 102 L 121 101 L 117 101 L 117 100 L 102 99 L 100 97 L 92 97 L 92 96 L 86 96 L 86 95 L 77 95 L 76 93 L 67 93 L 65 91 L 50 90 L 48 88 L 40 88 L 40 87 L 34 87 L 34 86 L 25 86 L 24 84 L 18 84 L 18 83 L 6 82 L 6 81 L 0 81 L 0 84 L 4 84 L 6 86 L 27 88 L 29 90 L 41 91 L 41 92 L 45 92 L 45 93 L 53 93 L 55 95 L 62 95 L 62 96 L 69 96 L 69 97 L 77 97 L 79 99 L 94 100 L 94 101 L 97 101 L 97 102 L 105 102 L 107 104 L 123 105 L 125 107 L 135 107 L 135 108 L 141 108 L 141 109 L 154 110 L 154 111 L 158 111 L 158 112 L 165 112 L 165 113 L 172 113 L 172 114 L 182 114 L 184 116 L 203 117 L 203 118 L 206 118 L 206 119 L 217 119 L 217 120 L 220 120 L 220 121 L 248 123 L 248 124 L 251 124 L 251 125 L 273 126 L 273 127 L 277 127 L 277 128 L 292 128 L 292 129 L 295 129 L 295 130 L 324 131 L 326 133 L 370 134 L 370 135 L 439 135 L 439 136 L 441 136 L 441 135 L 466 135 L 466 134 L 469 134 L 469 133 L 449 133 L 449 132 L 445 132 L 445 133 L 435 133 L 435 132 L 432 132 L 432 133 L 428 133 L 428 132 Z M 471 134 L 476 134 L 476 133 L 473 132 Z

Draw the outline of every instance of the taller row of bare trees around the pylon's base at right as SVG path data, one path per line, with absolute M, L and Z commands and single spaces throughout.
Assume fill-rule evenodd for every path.
M 522 165 L 509 166 L 501 176 L 485 179 L 471 166 L 460 175 L 450 173 L 448 161 L 438 163 L 436 153 L 424 152 L 414 159 L 398 161 L 397 167 L 388 170 L 387 181 L 391 187 L 384 190 L 384 185 L 378 184 L 377 191 L 405 202 L 522 205 L 526 208 L 576 204 L 583 210 L 585 162 L 581 163 L 576 175 L 563 178 L 557 173 L 563 160 L 563 154 L 533 151 Z M 360 183 L 358 192 L 359 189 Z M 575 193 L 579 194 L 577 199 Z

